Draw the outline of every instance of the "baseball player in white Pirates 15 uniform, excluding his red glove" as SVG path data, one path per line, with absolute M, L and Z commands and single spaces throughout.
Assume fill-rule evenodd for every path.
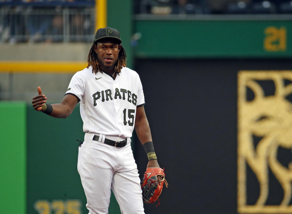
M 38 87 L 33 108 L 52 117 L 68 117 L 80 102 L 84 142 L 79 147 L 77 169 L 89 214 L 108 213 L 112 189 L 121 213 L 144 213 L 137 165 L 130 137 L 135 128 L 148 157 L 147 167 L 159 167 L 144 111 L 139 75 L 126 67 L 120 33 L 97 30 L 88 66 L 74 74 L 61 103 L 47 104 Z M 161 183 L 163 177 L 158 176 Z

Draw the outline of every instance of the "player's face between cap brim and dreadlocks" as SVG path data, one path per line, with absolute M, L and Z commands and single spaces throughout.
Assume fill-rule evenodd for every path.
M 113 40 L 102 40 L 94 46 L 97 53 L 99 67 L 104 71 L 113 71 L 119 57 L 121 45 Z

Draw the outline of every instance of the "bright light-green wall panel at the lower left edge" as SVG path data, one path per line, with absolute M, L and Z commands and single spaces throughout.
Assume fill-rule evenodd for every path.
M 26 213 L 26 105 L 0 102 L 0 212 Z

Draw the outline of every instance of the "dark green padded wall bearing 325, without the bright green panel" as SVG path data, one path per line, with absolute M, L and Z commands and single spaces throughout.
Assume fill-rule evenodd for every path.
M 79 104 L 66 119 L 50 117 L 27 106 L 28 214 L 88 213 L 77 171 L 78 146 L 83 141 Z M 120 213 L 112 194 L 109 213 Z

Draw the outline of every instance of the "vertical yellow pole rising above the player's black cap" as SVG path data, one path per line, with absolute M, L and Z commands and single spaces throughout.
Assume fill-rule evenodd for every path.
M 107 25 L 107 0 L 95 0 L 95 32 Z

